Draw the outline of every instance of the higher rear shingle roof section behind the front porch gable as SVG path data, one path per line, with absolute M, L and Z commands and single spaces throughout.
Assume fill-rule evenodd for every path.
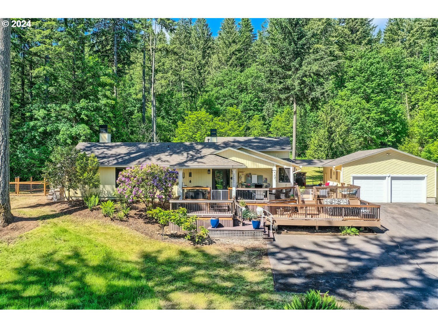
M 233 143 L 254 150 L 290 150 L 289 137 L 217 137 L 218 144 Z M 210 137 L 205 137 L 208 142 Z

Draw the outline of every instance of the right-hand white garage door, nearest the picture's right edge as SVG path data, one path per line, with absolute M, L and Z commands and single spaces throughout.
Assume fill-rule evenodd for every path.
M 425 202 L 425 177 L 391 177 L 391 202 Z

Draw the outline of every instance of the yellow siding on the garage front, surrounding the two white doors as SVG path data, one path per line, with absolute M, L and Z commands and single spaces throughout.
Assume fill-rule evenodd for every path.
M 389 153 L 390 155 L 386 155 Z M 343 182 L 351 175 L 427 175 L 427 197 L 436 197 L 436 166 L 418 158 L 388 150 L 343 165 Z

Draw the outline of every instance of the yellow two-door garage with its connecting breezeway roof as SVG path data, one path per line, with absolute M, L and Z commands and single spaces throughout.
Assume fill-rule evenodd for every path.
M 323 180 L 360 186 L 368 202 L 437 201 L 437 163 L 391 147 L 361 150 L 329 160 L 291 160 L 323 167 Z

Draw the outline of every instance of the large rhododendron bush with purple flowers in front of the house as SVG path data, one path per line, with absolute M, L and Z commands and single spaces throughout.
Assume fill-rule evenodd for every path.
M 116 196 L 125 202 L 143 201 L 152 206 L 155 200 L 162 206 L 172 196 L 177 183 L 178 171 L 157 164 L 127 167 L 117 178 Z

